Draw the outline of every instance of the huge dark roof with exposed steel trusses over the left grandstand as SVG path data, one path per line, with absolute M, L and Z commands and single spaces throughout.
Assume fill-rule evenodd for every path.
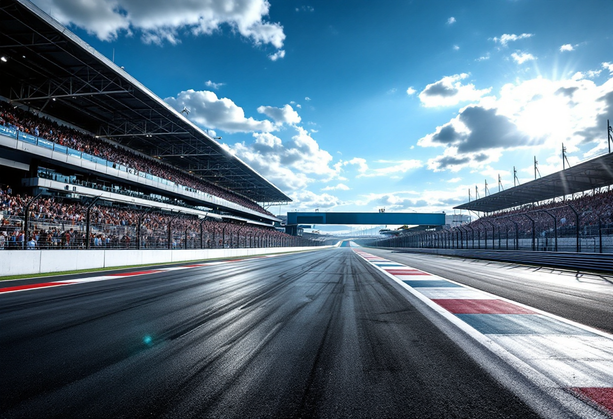
M 0 96 L 257 202 L 287 197 L 139 81 L 28 0 L 0 0 Z

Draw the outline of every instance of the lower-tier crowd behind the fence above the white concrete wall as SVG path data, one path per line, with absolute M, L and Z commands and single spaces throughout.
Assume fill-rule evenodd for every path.
M 140 221 L 143 248 L 200 247 L 200 226 L 205 247 L 257 247 L 289 243 L 292 236 L 274 228 L 257 227 L 213 217 L 159 213 L 120 206 L 96 206 L 90 210 L 91 228 L 86 235 L 86 205 L 62 198 L 37 198 L 30 205 L 25 232 L 26 205 L 32 197 L 0 188 L 0 249 L 79 249 L 89 246 L 134 248 Z M 256 240 L 260 240 L 259 243 Z

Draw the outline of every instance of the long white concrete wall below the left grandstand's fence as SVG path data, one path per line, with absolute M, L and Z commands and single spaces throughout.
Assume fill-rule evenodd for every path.
M 185 262 L 186 260 L 329 249 L 330 247 L 335 246 L 202 250 L 5 250 L 0 252 L 0 276 L 113 268 L 127 265 L 154 265 L 166 262 Z

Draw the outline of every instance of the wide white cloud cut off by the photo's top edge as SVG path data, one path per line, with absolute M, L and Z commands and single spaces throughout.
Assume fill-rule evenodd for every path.
M 211 34 L 229 25 L 256 45 L 283 47 L 283 26 L 265 20 L 267 0 L 34 0 L 64 25 L 101 40 L 140 32 L 148 43 L 178 43 L 183 34 Z

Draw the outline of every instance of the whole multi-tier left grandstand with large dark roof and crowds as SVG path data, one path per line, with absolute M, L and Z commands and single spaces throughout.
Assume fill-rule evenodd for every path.
M 7 247 L 295 243 L 265 209 L 291 199 L 123 68 L 28 0 L 0 26 Z

